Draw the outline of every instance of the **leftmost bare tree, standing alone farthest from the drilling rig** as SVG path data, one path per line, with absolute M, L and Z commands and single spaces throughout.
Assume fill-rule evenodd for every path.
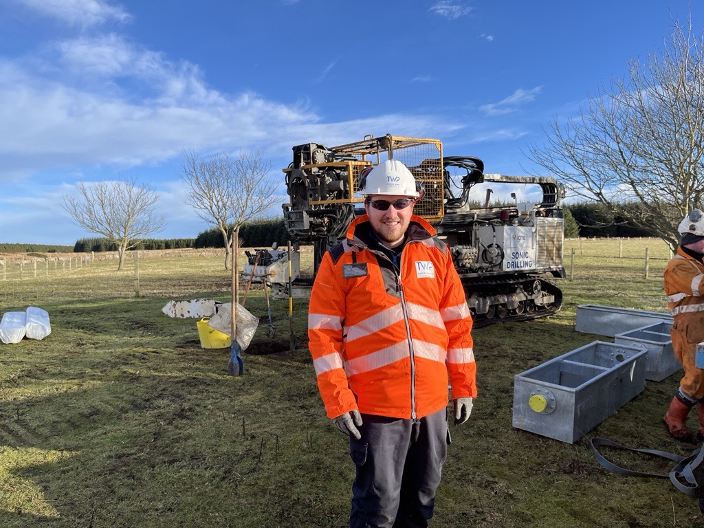
M 125 251 L 164 228 L 163 216 L 156 214 L 156 190 L 140 186 L 135 177 L 95 184 L 79 182 L 77 188 L 78 196 L 63 195 L 63 208 L 77 225 L 118 245 L 118 270 L 122 270 Z

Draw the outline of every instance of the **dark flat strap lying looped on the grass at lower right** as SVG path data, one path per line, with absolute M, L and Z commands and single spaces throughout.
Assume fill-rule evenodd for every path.
M 615 449 L 623 449 L 624 451 L 634 451 L 636 453 L 644 453 L 646 455 L 667 458 L 668 460 L 674 461 L 676 464 L 668 474 L 646 473 L 634 470 L 627 470 L 624 467 L 617 466 L 614 463 L 611 463 L 606 460 L 603 455 L 599 453 L 597 449 L 598 446 L 607 446 Z M 621 446 L 620 444 L 616 444 L 616 442 L 605 438 L 593 438 L 589 441 L 589 449 L 591 449 L 591 452 L 594 453 L 594 456 L 596 457 L 598 463 L 600 463 L 609 471 L 629 475 L 631 477 L 669 477 L 670 481 L 672 481 L 672 484 L 674 484 L 674 486 L 679 489 L 679 491 L 687 495 L 701 498 L 701 496 L 704 494 L 704 490 L 701 488 L 700 483 L 697 482 L 697 477 L 694 474 L 697 468 L 702 464 L 702 460 L 704 460 L 704 449 L 700 447 L 692 451 L 691 455 L 689 456 L 680 456 L 675 455 L 674 453 L 667 453 L 667 451 L 658 451 L 656 449 L 633 449 Z M 683 482 L 683 480 L 686 483 Z M 702 501 L 700 500 L 700 508 L 701 507 Z

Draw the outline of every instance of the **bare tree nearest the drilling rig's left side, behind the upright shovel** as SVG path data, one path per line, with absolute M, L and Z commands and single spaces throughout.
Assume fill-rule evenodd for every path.
M 222 234 L 227 270 L 232 237 L 239 235 L 245 222 L 276 202 L 277 186 L 268 179 L 271 163 L 263 161 L 258 151 L 243 151 L 237 156 L 216 153 L 208 158 L 188 151 L 184 158 L 180 178 L 189 187 L 185 202 Z

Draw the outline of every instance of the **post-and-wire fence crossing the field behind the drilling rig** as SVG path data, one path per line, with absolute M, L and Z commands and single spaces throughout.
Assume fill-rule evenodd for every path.
M 244 251 L 240 268 L 247 263 Z M 312 275 L 312 255 L 310 247 L 301 248 L 303 275 Z M 670 258 L 670 247 L 654 238 L 565 239 L 563 246 L 565 274 L 573 281 L 620 277 L 659 282 Z M 225 295 L 231 289 L 224 249 L 130 251 L 123 269 L 117 268 L 116 252 L 0 254 L 0 308 L 62 298 Z M 164 277 L 177 277 L 178 287 Z

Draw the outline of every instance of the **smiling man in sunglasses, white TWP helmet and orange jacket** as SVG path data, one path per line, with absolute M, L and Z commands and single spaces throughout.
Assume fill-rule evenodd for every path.
M 328 417 L 356 465 L 350 527 L 427 527 L 455 424 L 477 395 L 472 317 L 448 247 L 413 215 L 405 165 L 360 177 L 366 215 L 325 253 L 308 311 Z

